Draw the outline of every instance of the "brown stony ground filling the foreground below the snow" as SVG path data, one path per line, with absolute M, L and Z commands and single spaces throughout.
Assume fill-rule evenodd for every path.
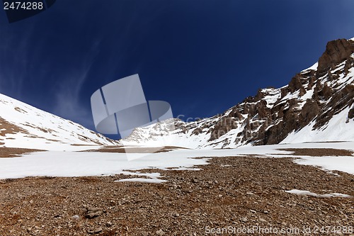
M 354 196 L 353 175 L 292 158 L 219 157 L 199 168 L 142 170 L 160 172 L 164 184 L 115 182 L 125 175 L 2 180 L 0 235 L 207 235 L 221 227 L 242 235 L 237 230 L 256 226 L 263 231 L 254 235 L 275 235 L 264 231 L 270 227 L 319 227 L 316 235 L 338 235 L 321 227 L 354 226 L 354 198 L 285 192 Z

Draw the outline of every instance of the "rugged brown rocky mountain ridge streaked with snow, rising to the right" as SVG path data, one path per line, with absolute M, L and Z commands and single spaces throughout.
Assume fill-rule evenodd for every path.
M 317 67 L 304 69 L 280 89 L 259 89 L 221 115 L 191 123 L 173 120 L 169 145 L 239 147 L 280 142 L 354 140 L 354 41 L 327 44 Z M 138 128 L 130 142 L 159 145 L 154 125 Z

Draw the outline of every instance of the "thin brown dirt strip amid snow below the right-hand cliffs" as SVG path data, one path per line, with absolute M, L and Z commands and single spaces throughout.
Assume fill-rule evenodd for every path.
M 352 156 L 353 152 L 342 149 L 333 148 L 286 148 L 279 149 L 280 151 L 293 152 L 295 156 L 312 156 L 312 157 L 324 157 L 324 156 Z

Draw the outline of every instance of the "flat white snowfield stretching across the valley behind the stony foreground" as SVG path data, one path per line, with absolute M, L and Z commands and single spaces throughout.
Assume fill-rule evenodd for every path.
M 335 148 L 353 150 L 354 142 L 316 142 L 286 145 L 243 146 L 225 150 L 174 150 L 154 153 L 128 161 L 124 153 L 34 152 L 22 157 L 0 158 L 0 179 L 25 176 L 101 176 L 131 174 L 139 169 L 193 169 L 207 164 L 207 157 L 290 157 L 286 148 Z M 137 155 L 140 155 L 139 153 Z M 205 157 L 193 159 L 192 157 Z M 296 163 L 354 174 L 354 157 L 301 157 Z M 129 172 L 131 171 L 131 172 Z M 139 173 L 136 173 L 139 175 Z M 142 174 L 147 176 L 146 174 Z M 158 176 L 148 176 L 158 178 Z

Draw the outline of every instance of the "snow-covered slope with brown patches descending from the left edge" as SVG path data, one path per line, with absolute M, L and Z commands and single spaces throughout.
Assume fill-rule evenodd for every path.
M 0 147 L 77 150 L 86 145 L 117 144 L 70 120 L 0 94 Z

